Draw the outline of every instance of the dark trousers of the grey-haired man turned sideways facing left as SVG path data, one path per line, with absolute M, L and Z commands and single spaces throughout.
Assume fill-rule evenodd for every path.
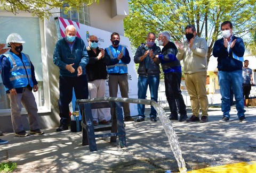
M 186 105 L 180 90 L 180 82 L 181 73 L 171 72 L 164 74 L 165 95 L 169 103 L 171 115 L 178 114 L 177 106 L 179 108 L 180 115 L 187 115 Z

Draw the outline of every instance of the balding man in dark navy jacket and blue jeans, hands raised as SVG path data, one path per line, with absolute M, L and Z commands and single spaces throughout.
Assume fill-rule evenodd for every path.
M 161 49 L 155 44 L 156 34 L 149 32 L 146 37 L 146 44 L 141 44 L 134 56 L 134 63 L 139 63 L 138 68 L 138 99 L 146 99 L 149 86 L 151 100 L 157 102 L 158 86 L 160 81 L 160 61 L 155 55 L 161 54 Z M 135 122 L 145 120 L 145 105 L 138 104 L 138 118 Z M 151 122 L 156 122 L 156 109 L 151 106 Z

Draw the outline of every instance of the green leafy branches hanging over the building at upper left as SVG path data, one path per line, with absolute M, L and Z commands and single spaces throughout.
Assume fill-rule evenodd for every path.
M 84 4 L 91 5 L 93 2 L 99 0 L 0 0 L 0 9 L 18 14 L 19 11 L 26 11 L 33 16 L 37 15 L 39 18 L 48 19 L 55 7 L 63 8 L 63 5 L 68 4 L 63 8 L 64 13 L 68 13 L 70 10 L 83 7 Z

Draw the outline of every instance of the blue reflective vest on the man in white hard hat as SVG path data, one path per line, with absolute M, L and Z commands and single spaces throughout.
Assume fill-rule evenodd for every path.
M 14 88 L 26 87 L 28 84 L 33 87 L 33 81 L 31 79 L 31 63 L 27 54 L 22 55 L 22 60 L 15 54 L 9 53 L 4 56 L 11 63 L 11 70 L 9 79 Z M 22 63 L 23 62 L 23 63 Z M 26 73 L 27 72 L 27 73 Z M 5 88 L 5 90 L 9 90 Z

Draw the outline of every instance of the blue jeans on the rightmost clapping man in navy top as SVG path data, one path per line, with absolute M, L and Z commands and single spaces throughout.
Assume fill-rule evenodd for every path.
M 223 116 L 230 117 L 230 87 L 233 88 L 235 100 L 236 100 L 236 110 L 238 118 L 244 116 L 244 97 L 242 89 L 242 70 L 237 70 L 233 72 L 223 72 L 219 71 L 219 84 L 220 84 L 220 94 L 221 94 L 221 110 Z

